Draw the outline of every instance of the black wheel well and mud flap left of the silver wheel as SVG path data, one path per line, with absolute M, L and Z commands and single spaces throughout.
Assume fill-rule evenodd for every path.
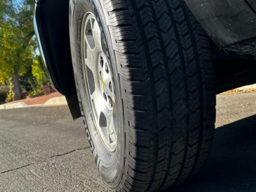
M 68 0 L 36 2 L 36 22 L 47 69 L 56 90 L 67 98 L 74 118 L 81 116 L 70 51 Z

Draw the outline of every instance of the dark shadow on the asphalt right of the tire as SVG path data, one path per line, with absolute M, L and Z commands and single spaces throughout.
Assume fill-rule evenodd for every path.
M 256 115 L 219 127 L 215 133 L 212 153 L 202 172 L 170 191 L 256 191 Z

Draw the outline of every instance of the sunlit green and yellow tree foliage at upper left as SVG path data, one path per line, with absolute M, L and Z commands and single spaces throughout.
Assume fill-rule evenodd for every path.
M 0 84 L 10 84 L 10 79 L 26 76 L 31 70 L 38 86 L 47 82 L 40 58 L 36 56 L 34 4 L 34 0 L 0 1 Z M 13 89 L 16 86 L 19 92 L 20 83 L 13 84 Z

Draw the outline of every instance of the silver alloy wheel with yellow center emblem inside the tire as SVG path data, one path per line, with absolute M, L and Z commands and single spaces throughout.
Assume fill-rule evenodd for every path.
M 84 15 L 81 29 L 81 45 L 88 100 L 93 120 L 105 147 L 113 152 L 116 148 L 115 84 L 102 32 L 92 12 Z

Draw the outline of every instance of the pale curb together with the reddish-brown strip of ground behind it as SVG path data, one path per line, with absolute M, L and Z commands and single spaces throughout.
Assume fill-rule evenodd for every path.
M 33 108 L 33 107 L 50 107 L 67 105 L 67 101 L 60 93 L 51 93 L 40 97 L 16 100 L 0 105 L 1 109 L 16 109 L 16 108 Z

